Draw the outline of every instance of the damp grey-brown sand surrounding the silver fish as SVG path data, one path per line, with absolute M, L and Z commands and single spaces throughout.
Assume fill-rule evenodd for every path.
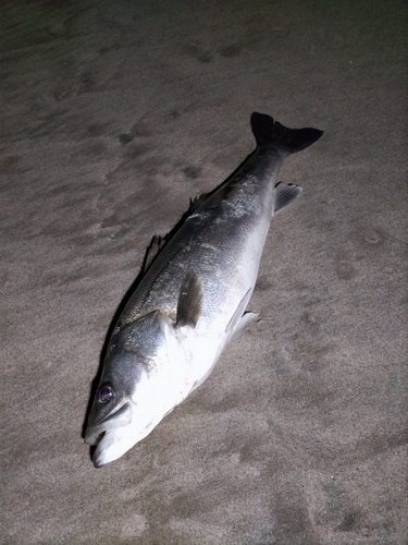
M 407 3 L 1 5 L 1 544 L 406 544 Z M 325 131 L 281 171 L 260 320 L 96 470 L 114 312 L 254 110 Z

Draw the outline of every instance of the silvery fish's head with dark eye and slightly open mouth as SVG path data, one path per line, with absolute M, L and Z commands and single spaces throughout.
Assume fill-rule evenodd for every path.
M 96 446 L 96 468 L 123 456 L 177 404 L 169 375 L 176 358 L 170 327 L 154 312 L 111 341 L 85 433 L 85 443 Z

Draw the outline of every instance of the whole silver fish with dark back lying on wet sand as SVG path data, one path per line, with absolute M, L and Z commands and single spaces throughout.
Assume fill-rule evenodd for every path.
M 302 191 L 277 183 L 280 168 L 323 132 L 259 112 L 250 124 L 255 152 L 193 204 L 113 326 L 84 437 L 96 468 L 150 434 L 256 316 L 247 306 L 271 220 Z

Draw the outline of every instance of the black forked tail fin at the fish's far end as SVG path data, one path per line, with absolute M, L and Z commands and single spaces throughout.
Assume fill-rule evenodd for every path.
M 265 113 L 254 112 L 250 124 L 259 147 L 274 147 L 295 154 L 311 146 L 323 134 L 318 129 L 286 129 Z

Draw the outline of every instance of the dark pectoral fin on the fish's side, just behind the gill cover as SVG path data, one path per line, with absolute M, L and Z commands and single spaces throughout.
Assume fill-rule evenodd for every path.
M 177 302 L 176 327 L 196 327 L 202 302 L 202 282 L 190 271 L 183 280 Z

